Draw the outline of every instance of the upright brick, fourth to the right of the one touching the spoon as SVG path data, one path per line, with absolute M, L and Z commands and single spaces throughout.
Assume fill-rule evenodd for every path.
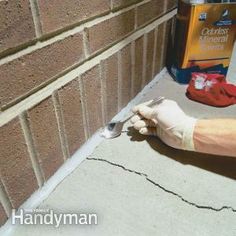
M 164 29 L 166 23 L 162 23 L 157 27 L 156 52 L 154 58 L 154 74 L 157 75 L 162 69 L 163 45 L 164 45 Z

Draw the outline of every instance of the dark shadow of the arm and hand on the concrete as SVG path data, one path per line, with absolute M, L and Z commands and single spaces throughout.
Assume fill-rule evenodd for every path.
M 143 136 L 139 134 L 133 127 L 128 128 L 127 135 L 133 142 L 148 142 L 150 147 L 156 152 L 175 161 L 181 162 L 184 165 L 197 166 L 207 171 L 231 179 L 236 179 L 236 158 L 174 149 L 164 144 L 157 137 Z

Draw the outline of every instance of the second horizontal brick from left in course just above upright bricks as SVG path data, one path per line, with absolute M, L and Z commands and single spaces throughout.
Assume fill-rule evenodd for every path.
M 86 29 L 90 54 L 105 49 L 134 30 L 134 10 L 124 12 Z

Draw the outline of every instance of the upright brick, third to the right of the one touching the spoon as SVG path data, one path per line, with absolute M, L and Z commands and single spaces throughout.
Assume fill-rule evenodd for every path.
M 147 34 L 147 50 L 146 50 L 146 65 L 145 65 L 145 82 L 150 82 L 152 78 L 154 53 L 154 30 Z

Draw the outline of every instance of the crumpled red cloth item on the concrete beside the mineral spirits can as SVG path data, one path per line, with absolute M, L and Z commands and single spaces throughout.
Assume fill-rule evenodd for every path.
M 191 100 L 215 107 L 236 104 L 236 86 L 228 84 L 220 74 L 192 73 L 186 95 Z

